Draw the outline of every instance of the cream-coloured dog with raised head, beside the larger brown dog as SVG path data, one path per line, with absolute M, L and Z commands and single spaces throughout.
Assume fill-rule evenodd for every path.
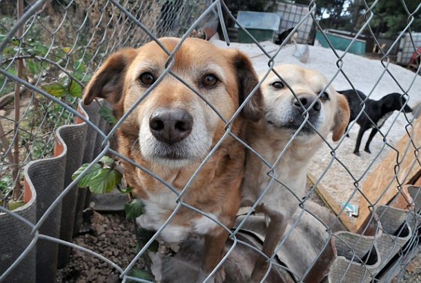
M 322 92 L 328 80 L 319 72 L 292 65 L 277 66 L 275 70 L 283 81 L 272 72 L 262 84 L 266 102 L 265 119 L 246 125 L 248 144 L 271 166 L 275 166 L 270 175 L 275 175 L 278 181 L 271 184 L 256 208 L 257 212 L 265 213 L 270 218 L 263 245 L 263 253 L 268 257 L 273 255 L 288 221 L 304 197 L 307 166 L 322 144 L 315 130 L 322 137 L 332 131 L 333 141 L 337 141 L 349 121 L 346 98 L 331 86 Z M 308 109 L 309 114 L 306 122 L 304 108 Z M 303 123 L 300 133 L 286 148 Z M 282 150 L 284 153 L 280 157 Z M 259 157 L 248 151 L 242 186 L 244 206 L 253 205 L 270 184 L 271 177 L 267 175 L 270 170 Z M 252 282 L 260 282 L 266 271 L 268 262 L 261 256 L 253 269 Z

